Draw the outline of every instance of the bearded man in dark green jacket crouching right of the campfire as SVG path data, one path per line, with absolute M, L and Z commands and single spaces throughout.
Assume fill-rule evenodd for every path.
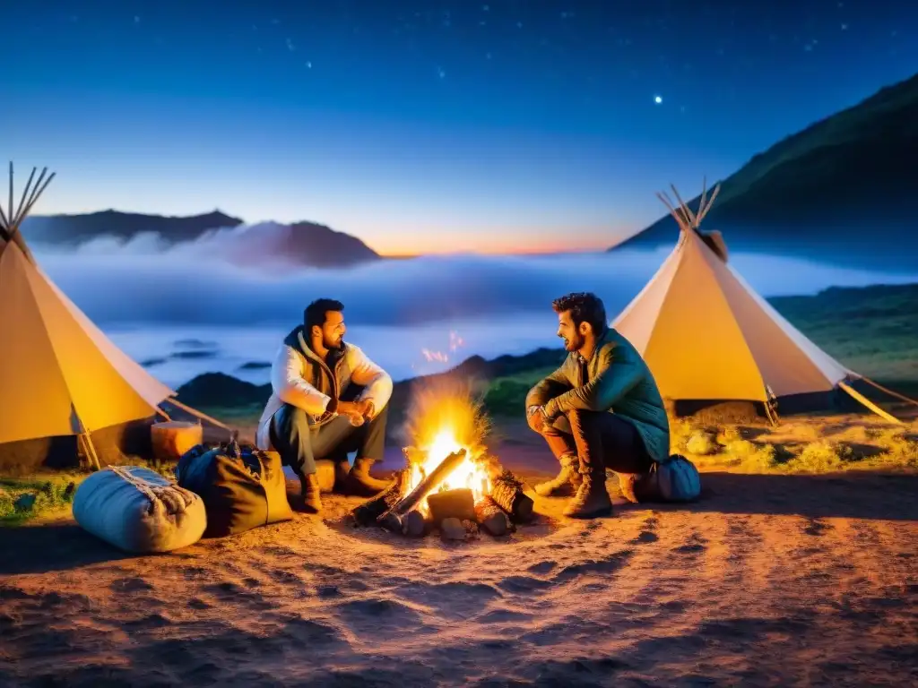
M 561 472 L 535 490 L 548 496 L 574 487 L 577 495 L 565 516 L 610 515 L 606 468 L 644 473 L 653 461 L 669 456 L 663 399 L 631 342 L 606 325 L 606 310 L 596 295 L 567 294 L 553 307 L 558 337 L 569 353 L 526 395 L 526 416 L 561 463 Z

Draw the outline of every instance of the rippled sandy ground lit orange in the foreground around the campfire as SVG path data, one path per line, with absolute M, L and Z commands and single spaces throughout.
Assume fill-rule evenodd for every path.
M 510 468 L 550 469 L 507 447 Z M 0 684 L 907 685 L 918 476 L 706 472 L 694 505 L 509 538 L 323 517 L 127 556 L 72 520 L 0 529 Z

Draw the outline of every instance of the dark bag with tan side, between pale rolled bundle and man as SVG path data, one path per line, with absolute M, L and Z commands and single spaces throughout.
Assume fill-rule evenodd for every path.
M 235 438 L 209 449 L 197 445 L 182 456 L 175 477 L 204 500 L 207 538 L 293 518 L 284 469 L 274 451 L 240 446 Z

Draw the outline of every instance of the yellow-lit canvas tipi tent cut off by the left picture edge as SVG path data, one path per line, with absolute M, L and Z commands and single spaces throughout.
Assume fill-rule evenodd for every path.
M 96 431 L 164 416 L 159 406 L 175 393 L 119 350 L 35 261 L 19 227 L 54 178 L 45 168 L 33 183 L 35 172 L 14 207 L 10 163 L 6 211 L 0 203 L 0 471 L 21 463 L 10 458 L 17 446 L 42 438 L 78 438 L 98 467 Z

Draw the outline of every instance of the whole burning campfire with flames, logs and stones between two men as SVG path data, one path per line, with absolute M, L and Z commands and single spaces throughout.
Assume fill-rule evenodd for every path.
M 407 466 L 393 485 L 353 511 L 357 525 L 422 537 L 499 537 L 532 519 L 522 483 L 487 452 L 489 424 L 465 387 L 440 383 L 419 390 L 409 409 L 402 449 Z

